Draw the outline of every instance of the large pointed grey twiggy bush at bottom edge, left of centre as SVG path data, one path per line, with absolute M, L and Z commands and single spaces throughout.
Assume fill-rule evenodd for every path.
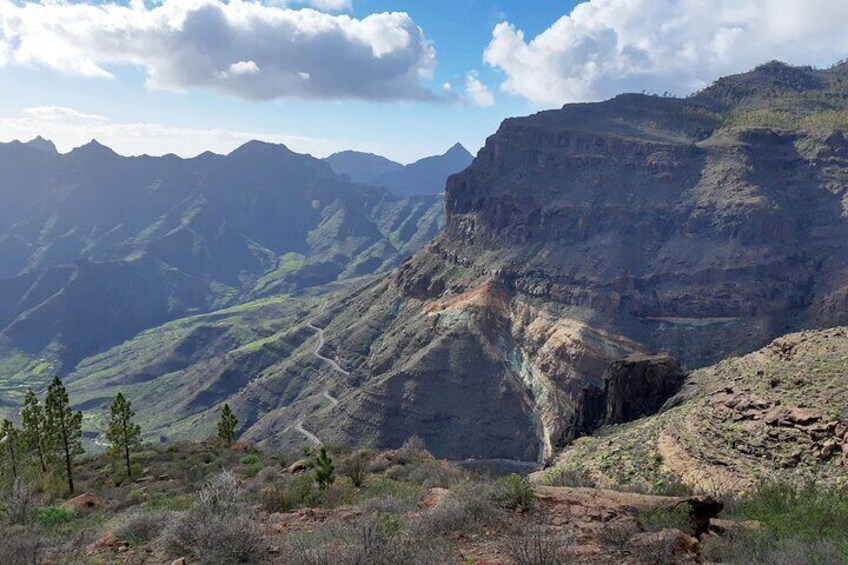
M 265 543 L 253 509 L 243 502 L 235 476 L 227 471 L 210 479 L 199 502 L 162 534 L 175 556 L 191 552 L 215 565 L 260 563 Z

